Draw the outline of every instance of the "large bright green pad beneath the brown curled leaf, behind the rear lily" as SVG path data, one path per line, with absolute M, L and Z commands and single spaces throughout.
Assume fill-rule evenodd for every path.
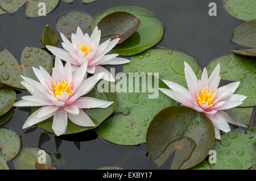
M 90 29 L 93 31 L 102 18 L 117 11 L 125 11 L 133 14 L 139 20 L 141 20 L 141 25 L 137 31 L 133 33 L 133 35 L 131 35 L 122 44 L 116 45 L 110 51 L 110 53 L 118 53 L 121 56 L 130 56 L 143 52 L 144 50 L 157 44 L 162 39 L 164 32 L 162 24 L 158 19 L 156 19 L 152 12 L 141 7 L 115 7 L 114 9 L 103 12 L 94 18 Z

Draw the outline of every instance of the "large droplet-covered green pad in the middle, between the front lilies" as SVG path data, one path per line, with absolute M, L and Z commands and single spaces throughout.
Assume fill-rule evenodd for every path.
M 142 85 L 142 82 L 146 83 L 148 77 L 147 74 L 144 75 L 144 80 L 141 78 L 139 82 L 127 83 L 127 90 L 129 90 L 129 85 L 134 87 L 135 85 Z M 127 77 L 123 77 L 119 81 L 116 80 L 116 87 L 120 86 L 122 80 L 129 82 L 131 79 L 133 78 L 129 78 L 127 75 Z M 159 82 L 159 87 L 167 89 L 166 84 L 156 77 L 152 77 L 152 87 L 156 85 L 157 81 Z M 124 85 L 126 86 L 126 84 Z M 147 85 L 147 87 L 150 86 Z M 125 88 L 123 87 L 122 89 Z M 110 117 L 100 127 L 94 129 L 98 136 L 118 145 L 138 145 L 145 142 L 148 125 L 156 113 L 167 106 L 176 104 L 175 100 L 158 91 L 157 86 L 154 88 L 159 95 L 153 99 L 149 99 L 149 95 L 154 93 L 152 91 L 149 92 L 148 89 L 142 92 L 142 86 L 139 86 L 138 92 L 117 92 L 117 112 L 122 113 Z

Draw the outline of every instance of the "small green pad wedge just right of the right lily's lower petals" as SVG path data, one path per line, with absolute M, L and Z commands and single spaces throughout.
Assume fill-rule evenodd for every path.
M 249 124 L 251 121 L 251 115 L 253 113 L 254 107 L 235 107 L 230 110 L 225 110 L 226 113 L 234 120 Z

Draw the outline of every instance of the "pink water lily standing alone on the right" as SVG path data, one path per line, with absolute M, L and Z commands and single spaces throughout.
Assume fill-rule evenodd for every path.
M 218 88 L 221 80 L 220 64 L 216 66 L 209 78 L 207 69 L 204 68 L 201 80 L 197 80 L 194 71 L 187 62 L 184 62 L 184 65 L 188 90 L 177 83 L 163 80 L 171 90 L 159 88 L 160 91 L 184 106 L 207 115 L 214 124 L 215 136 L 218 139 L 220 139 L 220 130 L 230 131 L 228 123 L 247 127 L 246 124 L 233 120 L 228 113 L 222 111 L 241 105 L 243 100 L 247 98 L 244 95 L 233 94 L 240 82 L 233 82 Z

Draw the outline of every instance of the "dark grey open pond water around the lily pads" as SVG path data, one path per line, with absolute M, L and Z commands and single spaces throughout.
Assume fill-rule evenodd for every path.
M 217 3 L 217 16 L 208 15 L 209 2 Z M 86 5 L 80 0 L 75 0 L 72 4 L 60 1 L 56 9 L 46 17 L 26 18 L 26 6 L 13 15 L 7 13 L 1 15 L 0 50 L 7 48 L 19 60 L 24 46 L 44 47 L 40 39 L 46 24 L 57 33 L 55 22 L 61 14 L 79 10 L 94 17 L 117 6 L 139 6 L 153 12 L 165 29 L 162 41 L 155 47 L 183 51 L 195 57 L 201 67 L 207 66 L 216 57 L 230 54 L 230 49 L 243 48 L 229 41 L 234 28 L 242 21 L 230 16 L 220 0 L 96 0 Z M 59 33 L 57 36 L 60 40 Z M 60 43 L 58 46 L 60 47 Z M 115 68 L 118 68 L 117 73 L 122 70 L 122 66 Z M 21 96 L 28 95 L 27 91 L 17 91 L 17 93 L 18 100 Z M 51 154 L 53 166 L 57 169 L 97 169 L 103 166 L 157 169 L 155 163 L 147 157 L 145 144 L 114 145 L 102 140 L 93 131 L 57 138 L 37 127 L 23 130 L 22 125 L 29 114 L 29 108 L 15 108 L 13 117 L 3 127 L 17 132 L 22 137 L 23 146 L 45 149 Z M 57 150 L 62 154 L 62 159 L 59 161 L 53 158 Z M 11 162 L 9 166 L 13 169 Z M 169 167 L 170 162 L 160 169 Z

